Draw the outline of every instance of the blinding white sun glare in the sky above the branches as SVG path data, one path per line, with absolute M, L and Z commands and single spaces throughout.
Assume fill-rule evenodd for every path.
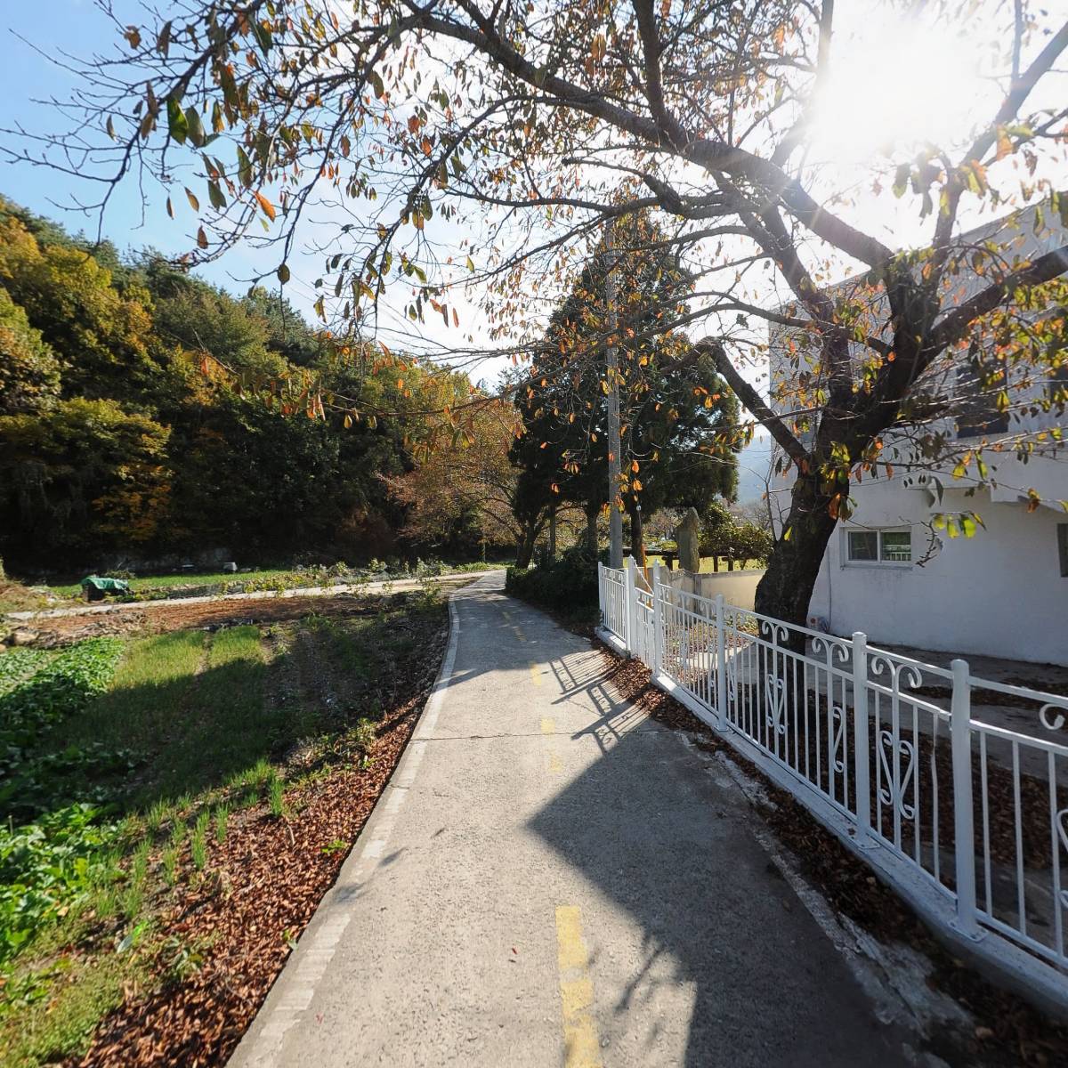
M 812 124 L 814 162 L 864 162 L 890 148 L 956 143 L 987 113 L 991 83 L 975 65 L 974 42 L 871 15 L 835 38 Z

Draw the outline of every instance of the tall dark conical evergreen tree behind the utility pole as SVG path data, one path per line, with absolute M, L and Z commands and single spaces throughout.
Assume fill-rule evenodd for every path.
M 609 271 L 615 283 L 611 327 Z M 545 344 L 516 388 L 523 434 L 514 464 L 527 474 L 524 499 L 574 501 L 586 512 L 587 541 L 606 504 L 630 517 L 631 550 L 644 555 L 642 512 L 733 499 L 740 441 L 724 435 L 737 423 L 737 402 L 710 359 L 671 328 L 679 298 L 692 286 L 664 252 L 662 234 L 642 216 L 614 227 L 556 309 Z M 606 348 L 618 358 L 621 466 L 609 500 Z

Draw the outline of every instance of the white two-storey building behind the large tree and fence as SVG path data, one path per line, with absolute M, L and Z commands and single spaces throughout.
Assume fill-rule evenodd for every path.
M 1024 213 L 1012 241 L 1014 254 L 1068 244 L 1057 226 L 1039 238 L 1033 235 L 1033 210 Z M 978 244 L 999 234 L 1005 222 L 963 235 Z M 1016 226 L 1016 224 L 1015 224 Z M 1004 235 L 999 236 L 999 242 Z M 958 279 L 958 284 L 960 280 Z M 849 286 L 843 283 L 842 287 Z M 964 280 L 961 295 L 974 292 L 978 281 Z M 842 288 L 836 287 L 836 288 Z M 790 330 L 771 339 L 772 383 L 782 380 L 782 347 Z M 961 361 L 964 362 L 964 361 Z M 942 368 L 959 389 L 968 367 Z M 945 420 L 941 425 L 961 442 L 1021 429 L 1039 431 L 1063 426 L 1068 415 L 1021 410 L 1020 402 L 1037 394 L 1059 395 L 1068 388 L 1068 367 L 1056 379 L 1017 386 L 1009 379 L 1012 414 L 1000 414 L 989 404 L 976 418 Z M 1039 452 L 1049 445 L 1039 443 Z M 1068 453 L 1059 457 L 1033 455 L 1026 464 L 1011 452 L 985 451 L 995 488 L 976 488 L 975 478 L 954 478 L 952 470 L 931 470 L 910 462 L 915 453 L 888 436 L 883 456 L 895 468 L 892 477 L 865 475 L 853 483 L 857 508 L 834 531 L 810 603 L 811 623 L 832 633 L 865 631 L 876 644 L 912 645 L 961 655 L 983 654 L 1068 665 Z M 948 466 L 951 469 L 953 464 Z M 970 468 L 974 472 L 975 468 Z M 788 482 L 779 480 L 772 492 L 772 512 L 785 515 Z M 1028 505 L 1026 490 L 1042 499 Z M 981 519 L 974 536 L 951 537 L 934 529 L 939 514 L 974 512 Z

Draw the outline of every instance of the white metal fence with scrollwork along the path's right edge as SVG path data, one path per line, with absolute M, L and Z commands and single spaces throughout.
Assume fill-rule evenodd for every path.
M 659 568 L 650 591 L 629 565 L 598 565 L 617 642 L 929 920 L 1068 1005 L 1068 696 L 686 593 Z

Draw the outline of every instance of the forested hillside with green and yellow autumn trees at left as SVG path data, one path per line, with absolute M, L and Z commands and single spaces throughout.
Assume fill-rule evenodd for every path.
M 412 468 L 419 413 L 469 384 L 376 355 L 277 294 L 236 299 L 0 199 L 0 555 L 17 574 L 216 548 L 249 563 L 418 551 L 396 540 L 404 506 L 382 476 Z M 304 418 L 309 382 L 364 418 Z M 460 528 L 446 548 L 476 537 Z

